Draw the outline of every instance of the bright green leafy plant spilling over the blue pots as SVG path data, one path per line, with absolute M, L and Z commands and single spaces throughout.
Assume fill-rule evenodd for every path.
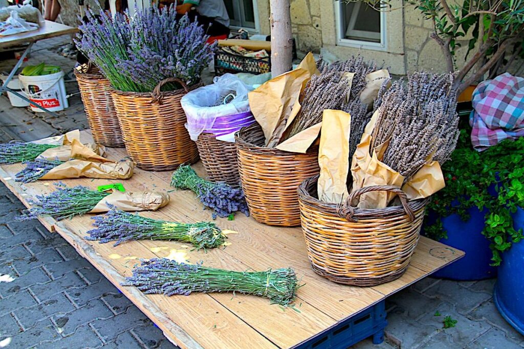
M 511 216 L 517 207 L 524 207 L 523 160 L 524 138 L 505 140 L 479 153 L 471 147 L 469 133 L 462 130 L 451 160 L 442 166 L 446 187 L 429 204 L 437 219 L 424 227 L 427 236 L 446 238 L 442 218 L 456 213 L 466 221 L 469 208 L 486 208 L 482 234 L 490 241 L 493 265 L 499 265 L 500 253 L 523 238 Z

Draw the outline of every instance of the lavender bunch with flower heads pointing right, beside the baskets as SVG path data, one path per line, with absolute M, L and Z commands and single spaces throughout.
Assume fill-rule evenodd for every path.
M 204 206 L 213 210 L 216 216 L 228 217 L 236 211 L 249 216 L 244 192 L 224 182 L 213 183 L 200 178 L 189 165 L 182 165 L 171 176 L 171 186 L 189 189 L 198 196 Z

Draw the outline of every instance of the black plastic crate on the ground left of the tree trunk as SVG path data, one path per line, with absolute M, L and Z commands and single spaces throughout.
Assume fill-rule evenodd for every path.
M 271 60 L 267 58 L 251 58 L 243 55 L 225 52 L 219 48 L 215 52 L 215 73 L 251 73 L 262 74 L 271 71 Z

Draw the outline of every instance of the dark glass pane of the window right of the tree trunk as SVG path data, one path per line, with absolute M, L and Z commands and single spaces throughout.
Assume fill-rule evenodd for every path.
M 380 42 L 380 12 L 362 2 L 341 6 L 346 39 Z

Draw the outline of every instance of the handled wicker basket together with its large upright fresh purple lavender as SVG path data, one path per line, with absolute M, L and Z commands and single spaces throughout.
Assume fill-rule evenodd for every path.
M 180 99 L 202 85 L 213 58 L 202 26 L 171 7 L 87 17 L 75 42 L 111 83 L 129 157 L 152 171 L 198 161 Z

